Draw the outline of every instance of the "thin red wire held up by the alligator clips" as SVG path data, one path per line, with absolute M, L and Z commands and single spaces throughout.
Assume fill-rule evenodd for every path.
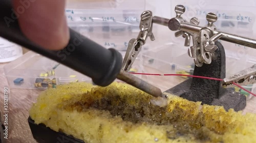
M 158 76 L 189 76 L 189 77 L 196 77 L 196 78 L 203 78 L 203 79 L 211 79 L 211 80 L 219 80 L 222 81 L 223 79 L 220 78 L 212 78 L 212 77 L 205 77 L 205 76 L 197 76 L 197 75 L 186 75 L 186 74 L 155 74 L 155 73 L 136 73 L 136 72 L 130 72 L 131 74 L 140 74 L 140 75 L 158 75 Z M 234 85 L 236 85 L 237 87 L 239 87 L 240 89 L 248 92 L 249 94 L 256 96 L 256 94 L 253 94 L 252 92 L 246 90 L 245 88 L 243 88 L 241 85 L 234 83 Z

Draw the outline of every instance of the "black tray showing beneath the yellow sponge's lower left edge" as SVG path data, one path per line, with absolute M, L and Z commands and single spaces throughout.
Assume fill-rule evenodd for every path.
M 30 117 L 28 122 L 34 139 L 39 143 L 86 143 L 65 133 L 55 132 L 44 124 L 37 125 Z

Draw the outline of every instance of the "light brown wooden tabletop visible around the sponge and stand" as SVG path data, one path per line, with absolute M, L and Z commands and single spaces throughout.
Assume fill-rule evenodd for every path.
M 4 106 L 4 87 L 8 87 L 8 82 L 4 76 L 3 67 L 5 64 L 0 64 L 0 111 L 3 112 Z M 152 73 L 157 73 L 150 69 Z M 174 87 L 175 84 L 182 82 L 184 79 L 180 77 L 167 77 L 167 76 L 142 76 L 148 82 L 151 82 L 162 91 Z M 31 134 L 28 117 L 29 108 L 32 103 L 36 101 L 36 97 L 42 90 L 26 90 L 26 89 L 9 89 L 9 113 L 8 113 L 8 140 L 7 142 L 36 142 Z M 256 113 L 256 98 L 252 98 L 247 102 L 246 108 L 243 112 Z M 3 121 L 3 113 L 1 120 Z

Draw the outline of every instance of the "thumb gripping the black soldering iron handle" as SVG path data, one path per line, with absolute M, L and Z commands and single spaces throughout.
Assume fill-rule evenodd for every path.
M 36 44 L 52 50 L 67 46 L 69 28 L 64 0 L 13 0 L 20 29 Z M 21 7 L 25 8 L 22 11 Z

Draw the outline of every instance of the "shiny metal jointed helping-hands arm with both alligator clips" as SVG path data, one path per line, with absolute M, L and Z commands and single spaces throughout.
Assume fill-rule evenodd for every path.
M 256 49 L 256 40 L 254 39 L 218 31 L 217 27 L 214 25 L 214 22 L 217 21 L 218 17 L 214 13 L 208 13 L 206 15 L 206 20 L 208 21 L 207 25 L 199 26 L 200 22 L 198 18 L 193 17 L 188 22 L 182 17 L 182 14 L 185 12 L 184 6 L 176 6 L 175 12 L 177 15 L 172 19 L 153 16 L 151 11 L 145 11 L 141 14 L 141 31 L 137 39 L 132 39 L 129 42 L 122 63 L 123 70 L 130 70 L 148 36 L 152 41 L 155 40 L 152 33 L 153 23 L 168 26 L 169 30 L 176 32 L 176 37 L 182 36 L 185 38 L 184 46 L 189 47 L 188 55 L 193 58 L 197 67 L 202 67 L 203 64 L 212 63 L 212 60 L 215 59 L 215 50 L 218 48 L 215 42 L 219 39 Z M 192 46 L 190 46 L 191 39 L 193 43 Z M 254 65 L 252 68 L 241 71 L 241 73 L 225 78 L 222 83 L 223 87 L 232 87 L 233 82 L 241 85 L 255 83 L 255 67 L 256 66 Z

